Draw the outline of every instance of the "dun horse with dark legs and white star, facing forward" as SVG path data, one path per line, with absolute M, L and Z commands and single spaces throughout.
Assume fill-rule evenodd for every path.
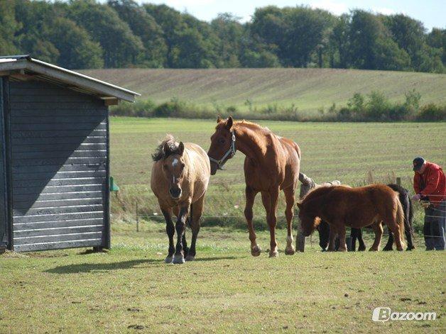
M 195 259 L 195 243 L 200 231 L 200 218 L 210 179 L 209 158 L 200 146 L 193 143 L 176 143 L 171 135 L 156 148 L 152 157 L 154 163 L 151 189 L 158 198 L 169 237 L 169 252 L 165 262 L 180 264 L 185 260 L 192 261 Z M 175 227 L 172 213 L 177 217 Z M 190 249 L 187 249 L 185 238 L 187 217 L 192 228 Z M 176 247 L 173 245 L 175 230 Z

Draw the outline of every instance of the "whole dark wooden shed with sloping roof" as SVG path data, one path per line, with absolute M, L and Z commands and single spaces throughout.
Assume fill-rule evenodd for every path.
M 137 95 L 0 57 L 0 246 L 110 247 L 108 108 Z

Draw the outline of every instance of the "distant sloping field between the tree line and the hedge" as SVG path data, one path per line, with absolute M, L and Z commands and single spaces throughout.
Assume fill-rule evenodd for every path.
M 359 69 L 90 69 L 82 73 L 137 91 L 160 103 L 173 97 L 197 106 L 291 106 L 300 113 L 347 104 L 354 93 L 383 91 L 403 101 L 416 89 L 421 104 L 446 102 L 446 75 Z

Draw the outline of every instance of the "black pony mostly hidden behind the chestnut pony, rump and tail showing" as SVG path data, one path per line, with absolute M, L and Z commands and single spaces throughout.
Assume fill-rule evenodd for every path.
M 413 245 L 413 204 L 410 200 L 408 190 L 398 184 L 393 183 L 387 184 L 387 187 L 391 187 L 393 191 L 396 191 L 398 193 L 398 198 L 401 202 L 401 206 L 403 206 L 404 212 L 404 233 L 406 234 L 407 240 L 406 250 L 414 250 L 415 245 Z M 364 240 L 362 240 L 361 229 L 352 228 L 352 250 L 356 248 L 356 240 L 359 241 L 359 250 L 361 250 L 361 247 L 364 247 L 365 250 L 366 246 L 364 244 Z M 393 234 L 390 230 L 388 231 L 387 244 L 383 248 L 383 250 L 393 250 Z

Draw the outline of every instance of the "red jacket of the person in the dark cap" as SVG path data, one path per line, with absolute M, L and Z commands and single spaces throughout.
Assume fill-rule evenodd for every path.
M 417 194 L 428 197 L 435 206 L 446 199 L 446 177 L 439 165 L 426 162 L 423 174 L 415 172 L 413 189 Z

